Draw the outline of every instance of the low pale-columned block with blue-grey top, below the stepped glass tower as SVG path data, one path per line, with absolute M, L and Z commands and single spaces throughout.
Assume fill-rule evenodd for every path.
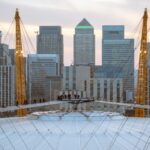
M 122 102 L 123 101 L 123 74 L 122 68 L 110 65 L 95 66 L 94 78 L 97 82 L 98 99 Z M 101 90 L 98 90 L 101 89 Z

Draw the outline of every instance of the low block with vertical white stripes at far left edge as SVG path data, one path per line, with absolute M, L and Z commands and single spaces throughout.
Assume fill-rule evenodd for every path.
M 15 67 L 0 66 L 0 107 L 14 106 L 15 102 Z

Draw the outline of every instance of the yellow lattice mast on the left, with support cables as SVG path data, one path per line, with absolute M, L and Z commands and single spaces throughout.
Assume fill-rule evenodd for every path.
M 20 16 L 19 11 L 16 9 L 15 14 L 16 22 L 16 102 L 18 105 L 25 104 L 26 101 L 26 85 L 25 85 L 25 74 L 24 74 L 24 58 L 22 50 L 22 39 L 21 39 L 21 28 L 20 28 Z M 26 109 L 17 110 L 19 117 L 25 116 L 27 113 Z

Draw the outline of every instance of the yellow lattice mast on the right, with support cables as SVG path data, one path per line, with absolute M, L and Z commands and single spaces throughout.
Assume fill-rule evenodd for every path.
M 147 102 L 147 22 L 148 12 L 147 9 L 145 9 L 143 16 L 140 59 L 138 67 L 138 81 L 136 91 L 136 103 L 141 105 L 145 105 Z M 145 117 L 145 115 L 146 112 L 144 108 L 136 108 L 135 117 Z

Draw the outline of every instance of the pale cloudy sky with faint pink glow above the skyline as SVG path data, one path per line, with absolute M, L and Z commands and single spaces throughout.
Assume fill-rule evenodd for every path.
M 3 32 L 3 42 L 13 47 L 10 43 L 13 32 L 9 27 L 16 8 L 19 8 L 34 47 L 31 46 L 28 52 L 35 53 L 39 26 L 60 25 L 64 35 L 64 63 L 70 65 L 73 63 L 74 28 L 86 18 L 95 29 L 96 64 L 99 65 L 102 60 L 102 25 L 125 25 L 126 38 L 137 40 L 136 35 L 140 32 L 137 26 L 146 7 L 150 12 L 150 0 L 0 0 L 0 30 Z M 135 53 L 135 65 L 137 59 L 138 52 Z

